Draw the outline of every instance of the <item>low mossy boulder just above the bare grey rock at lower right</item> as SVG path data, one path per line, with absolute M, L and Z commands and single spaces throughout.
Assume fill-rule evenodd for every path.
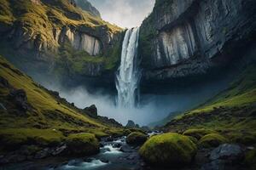
M 229 140 L 218 133 L 210 133 L 199 140 L 198 146 L 202 148 L 218 147 L 220 144 L 228 143 Z

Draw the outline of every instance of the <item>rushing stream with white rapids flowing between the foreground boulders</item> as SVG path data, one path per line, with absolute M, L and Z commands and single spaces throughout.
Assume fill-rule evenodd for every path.
M 101 151 L 96 156 L 84 159 L 74 159 L 47 170 L 118 170 L 137 169 L 142 161 L 137 154 L 138 148 L 132 148 L 125 143 L 125 137 L 112 142 L 102 142 Z

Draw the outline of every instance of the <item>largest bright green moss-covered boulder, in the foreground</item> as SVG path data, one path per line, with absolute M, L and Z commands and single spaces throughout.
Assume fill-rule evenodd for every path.
M 162 167 L 189 164 L 197 151 L 189 137 L 178 133 L 164 133 L 148 139 L 139 150 L 149 164 Z

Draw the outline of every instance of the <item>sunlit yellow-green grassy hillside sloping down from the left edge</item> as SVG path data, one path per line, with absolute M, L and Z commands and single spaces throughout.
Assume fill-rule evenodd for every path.
M 15 99 L 11 95 L 17 89 L 26 92 L 26 109 L 20 108 L 21 94 Z M 97 138 L 123 133 L 120 127 L 114 127 L 116 124 L 87 116 L 55 92 L 33 82 L 3 57 L 0 57 L 0 104 L 0 151 L 13 150 L 22 144 L 60 144 L 77 133 L 91 133 Z

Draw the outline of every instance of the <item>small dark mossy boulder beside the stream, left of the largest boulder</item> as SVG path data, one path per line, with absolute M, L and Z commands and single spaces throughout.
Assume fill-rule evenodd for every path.
M 144 144 L 148 139 L 148 135 L 140 132 L 130 133 L 126 138 L 127 144 L 141 145 Z

